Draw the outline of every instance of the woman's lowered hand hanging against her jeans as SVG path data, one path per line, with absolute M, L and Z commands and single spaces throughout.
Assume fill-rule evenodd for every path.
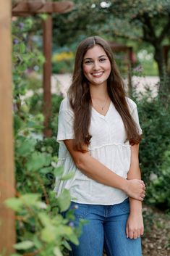
M 127 219 L 126 234 L 129 239 L 137 239 L 144 233 L 142 213 L 130 212 Z

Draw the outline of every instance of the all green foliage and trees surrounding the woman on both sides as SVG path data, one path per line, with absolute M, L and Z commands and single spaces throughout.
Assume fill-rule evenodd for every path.
M 77 1 L 75 9 L 65 15 L 54 15 L 54 73 L 72 72 L 77 44 L 86 36 L 98 34 L 107 40 L 133 46 L 135 53 L 145 49 L 152 54 L 147 75 L 157 75 L 156 63 L 163 62 L 160 47 L 169 43 L 169 1 Z M 95 6 L 94 6 L 95 4 Z M 115 8 L 114 8 L 115 7 Z M 126 12 L 124 12 L 126 10 Z M 93 17 L 93 19 L 91 19 Z M 41 44 L 41 22 L 46 15 L 14 19 L 13 29 L 13 85 L 14 85 L 14 140 L 17 197 L 7 204 L 17 213 L 17 244 L 19 255 L 67 255 L 67 241 L 78 243 L 81 226 L 74 224 L 74 209 L 63 218 L 61 211 L 70 205 L 69 192 L 64 191 L 56 200 L 52 190 L 54 176 L 61 179 L 62 168 L 56 168 L 58 144 L 56 144 L 57 120 L 61 95 L 53 95 L 51 138 L 43 137 L 42 94 L 40 80 L 30 78 L 30 72 L 42 73 L 44 57 Z M 122 20 L 124 22 L 122 22 Z M 148 25 L 150 28 L 148 28 Z M 149 37 L 148 37 L 149 35 Z M 153 60 L 155 59 L 155 60 Z M 144 59 L 145 60 L 145 59 Z M 121 61 L 120 61 L 121 62 Z M 136 65 L 141 65 L 138 57 Z M 143 61 L 144 66 L 147 65 Z M 125 70 L 126 72 L 126 70 Z M 163 72 L 163 73 L 161 73 Z M 169 86 L 164 71 L 160 70 L 161 85 Z M 33 96 L 27 97 L 27 90 Z M 159 91 L 155 98 L 132 91 L 137 102 L 143 141 L 140 144 L 140 167 L 147 184 L 148 205 L 164 212 L 170 209 L 170 102 L 169 94 Z M 144 212 L 145 213 L 145 212 Z M 145 221 L 150 223 L 145 213 Z M 168 244 L 169 247 L 169 244 Z

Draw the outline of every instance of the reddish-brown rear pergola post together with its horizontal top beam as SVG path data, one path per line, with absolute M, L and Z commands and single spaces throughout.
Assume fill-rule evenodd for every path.
M 27 16 L 38 13 L 48 13 L 49 17 L 43 22 L 43 54 L 46 62 L 43 66 L 43 115 L 44 115 L 44 136 L 51 136 L 49 120 L 51 118 L 51 42 L 52 42 L 52 18 L 53 13 L 67 13 L 72 11 L 72 1 L 43 1 L 25 0 L 17 1 L 12 7 L 12 15 Z

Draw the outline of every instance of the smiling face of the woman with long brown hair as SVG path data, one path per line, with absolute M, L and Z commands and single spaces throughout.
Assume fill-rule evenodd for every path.
M 111 73 L 111 62 L 101 46 L 95 45 L 85 53 L 82 70 L 90 84 L 107 84 L 107 79 Z

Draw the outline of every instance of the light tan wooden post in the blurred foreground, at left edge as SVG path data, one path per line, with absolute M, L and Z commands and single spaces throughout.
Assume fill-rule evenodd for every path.
M 11 1 L 0 0 L 0 254 L 13 252 L 14 212 L 4 200 L 14 197 L 14 156 L 12 135 L 12 43 Z

